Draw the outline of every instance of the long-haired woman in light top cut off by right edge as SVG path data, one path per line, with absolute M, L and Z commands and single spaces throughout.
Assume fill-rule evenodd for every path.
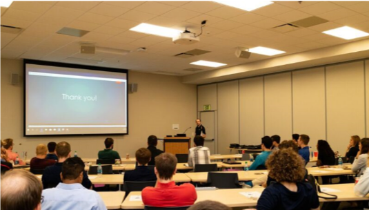
M 357 177 L 363 175 L 364 171 L 366 170 L 366 160 L 368 159 L 369 152 L 369 138 L 363 138 L 359 142 L 359 149 L 360 150 L 357 153 L 351 168 L 353 172 L 359 172 Z

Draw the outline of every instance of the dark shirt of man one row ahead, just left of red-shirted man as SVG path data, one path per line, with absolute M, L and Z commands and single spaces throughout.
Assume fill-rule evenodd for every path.
M 156 181 L 157 176 L 153 168 L 148 166 L 136 166 L 133 171 L 126 171 L 124 173 L 124 182 L 149 182 Z

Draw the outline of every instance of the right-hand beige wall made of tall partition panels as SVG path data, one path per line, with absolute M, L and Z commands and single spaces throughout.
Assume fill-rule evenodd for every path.
M 263 135 L 286 140 L 299 133 L 310 135 L 314 151 L 317 140 L 328 140 L 344 155 L 351 135 L 362 138 L 369 131 L 368 66 L 369 61 L 350 61 L 202 85 L 198 97 L 217 97 L 212 109 L 219 117 L 220 153 L 229 153 L 221 147 L 230 143 L 259 144 Z

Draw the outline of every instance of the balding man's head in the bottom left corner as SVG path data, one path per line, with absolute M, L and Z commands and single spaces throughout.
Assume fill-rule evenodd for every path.
M 12 170 L 0 178 L 1 210 L 40 210 L 42 184 L 25 170 Z

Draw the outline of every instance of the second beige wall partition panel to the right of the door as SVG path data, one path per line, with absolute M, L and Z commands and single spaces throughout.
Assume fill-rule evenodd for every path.
M 240 144 L 260 144 L 264 135 L 263 77 L 239 81 Z

